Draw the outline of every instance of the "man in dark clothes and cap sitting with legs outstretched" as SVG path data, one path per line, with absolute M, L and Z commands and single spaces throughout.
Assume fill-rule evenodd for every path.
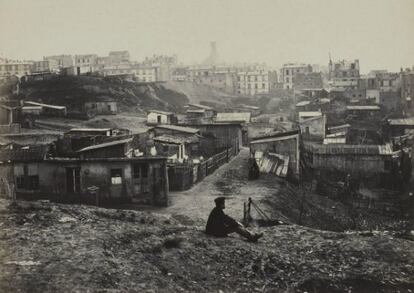
M 218 197 L 214 200 L 216 207 L 211 211 L 207 220 L 206 233 L 216 237 L 226 237 L 228 234 L 236 232 L 245 237 L 250 242 L 256 242 L 263 234 L 251 234 L 243 225 L 235 219 L 227 216 L 223 210 L 225 206 L 225 198 Z

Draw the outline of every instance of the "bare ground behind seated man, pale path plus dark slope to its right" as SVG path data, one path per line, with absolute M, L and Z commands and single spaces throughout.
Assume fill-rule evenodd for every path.
M 271 220 L 304 226 L 345 231 L 398 228 L 399 220 L 384 215 L 355 211 L 340 202 L 306 192 L 274 175 L 261 174 L 258 180 L 248 180 L 249 149 L 241 152 L 228 164 L 193 186 L 190 190 L 170 193 L 170 206 L 156 212 L 171 214 L 184 223 L 205 224 L 214 199 L 224 196 L 225 212 L 237 220 L 243 219 L 243 203 L 248 198 L 265 212 Z M 253 220 L 264 220 L 254 208 Z M 255 225 L 253 222 L 252 225 Z

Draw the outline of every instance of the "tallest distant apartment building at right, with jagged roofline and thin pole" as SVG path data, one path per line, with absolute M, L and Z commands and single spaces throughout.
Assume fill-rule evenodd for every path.
M 341 60 L 332 62 L 329 60 L 329 82 L 333 88 L 357 89 L 359 82 L 359 60 Z

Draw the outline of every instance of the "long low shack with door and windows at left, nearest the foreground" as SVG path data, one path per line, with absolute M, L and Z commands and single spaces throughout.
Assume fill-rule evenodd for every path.
M 85 148 L 80 158 L 47 157 L 39 146 L 15 147 L 1 152 L 0 174 L 15 182 L 18 196 L 167 205 L 167 158 L 143 153 L 126 156 L 122 147 L 127 143 Z

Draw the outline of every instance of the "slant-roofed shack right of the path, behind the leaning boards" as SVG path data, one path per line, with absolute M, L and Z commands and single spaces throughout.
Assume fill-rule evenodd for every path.
M 257 157 L 256 153 L 272 153 L 287 157 L 288 173 L 297 176 L 300 173 L 299 143 L 299 130 L 268 133 L 250 141 L 250 153 L 253 157 Z

